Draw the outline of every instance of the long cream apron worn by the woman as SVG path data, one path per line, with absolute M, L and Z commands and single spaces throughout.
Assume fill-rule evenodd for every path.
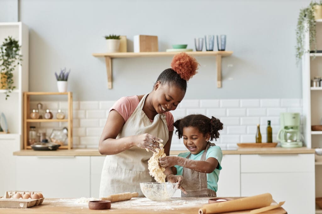
M 142 110 L 147 95 L 141 99 L 133 114 L 125 122 L 117 139 L 149 133 L 162 139 L 163 144 L 166 144 L 169 139 L 166 115 L 157 114 L 153 122 L 149 120 Z M 144 197 L 140 183 L 155 182 L 147 168 L 147 161 L 152 155 L 152 151 L 147 152 L 136 146 L 116 155 L 107 155 L 101 174 L 99 197 L 125 192 L 138 192 L 138 197 Z

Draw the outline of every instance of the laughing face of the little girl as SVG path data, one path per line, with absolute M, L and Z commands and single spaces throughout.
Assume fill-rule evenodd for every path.
M 185 147 L 190 151 L 191 154 L 198 154 L 202 150 L 206 149 L 207 141 L 209 141 L 210 134 L 207 133 L 205 136 L 200 133 L 198 129 L 193 126 L 183 128 L 183 143 Z

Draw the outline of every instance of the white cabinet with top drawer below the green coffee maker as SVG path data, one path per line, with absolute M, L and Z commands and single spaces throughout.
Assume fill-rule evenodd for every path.
M 271 193 L 288 213 L 315 213 L 314 154 L 241 155 L 241 196 Z

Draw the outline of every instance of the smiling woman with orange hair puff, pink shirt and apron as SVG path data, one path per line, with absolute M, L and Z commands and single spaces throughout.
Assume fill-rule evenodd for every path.
M 107 155 L 99 197 L 124 192 L 138 192 L 144 197 L 139 184 L 154 182 L 147 168 L 151 151 L 161 142 L 169 155 L 174 130 L 169 111 L 184 98 L 187 81 L 196 73 L 198 63 L 194 57 L 180 53 L 174 56 L 171 67 L 159 75 L 150 93 L 120 98 L 111 107 L 99 140 L 100 154 Z

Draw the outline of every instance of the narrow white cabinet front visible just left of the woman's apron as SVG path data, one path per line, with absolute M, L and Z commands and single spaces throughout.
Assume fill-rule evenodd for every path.
M 99 198 L 100 177 L 105 157 L 105 155 L 90 157 L 90 197 Z

